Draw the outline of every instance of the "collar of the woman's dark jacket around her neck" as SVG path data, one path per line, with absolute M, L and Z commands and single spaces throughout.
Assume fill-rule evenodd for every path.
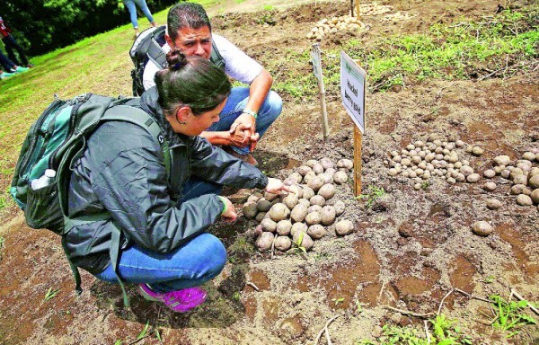
M 158 100 L 159 93 L 157 93 L 157 87 L 154 86 L 140 96 L 140 106 L 144 111 L 151 114 L 159 126 L 163 128 L 164 136 L 171 148 L 174 146 L 187 146 L 194 138 L 172 130 L 171 124 L 164 118 L 163 109 Z

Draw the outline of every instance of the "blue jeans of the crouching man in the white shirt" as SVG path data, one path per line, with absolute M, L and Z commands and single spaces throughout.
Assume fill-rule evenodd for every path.
M 248 87 L 233 87 L 228 96 L 228 100 L 226 100 L 225 108 L 223 108 L 223 111 L 219 114 L 219 121 L 208 128 L 208 131 L 228 131 L 235 119 L 242 115 L 242 111 L 245 109 L 248 100 Z M 256 119 L 256 132 L 260 134 L 261 137 L 266 133 L 266 130 L 270 128 L 273 121 L 278 118 L 282 109 L 283 101 L 280 96 L 277 93 L 270 91 L 262 103 L 261 109 L 258 111 L 258 118 Z M 249 154 L 249 147 L 231 147 L 238 154 Z

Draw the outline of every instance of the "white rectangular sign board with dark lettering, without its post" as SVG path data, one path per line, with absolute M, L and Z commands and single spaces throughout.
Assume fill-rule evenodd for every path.
M 344 51 L 340 52 L 340 95 L 350 118 L 365 134 L 365 85 L 367 72 Z

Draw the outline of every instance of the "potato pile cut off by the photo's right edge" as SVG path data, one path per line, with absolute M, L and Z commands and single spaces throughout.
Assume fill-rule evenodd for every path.
M 520 206 L 539 205 L 539 149 L 528 151 L 517 162 L 512 162 L 508 155 L 499 155 L 494 158 L 492 169 L 483 172 L 486 179 L 497 175 L 512 181 L 510 194 L 517 196 L 517 204 Z M 483 185 L 484 190 L 496 190 L 496 183 L 487 181 Z M 497 205 L 487 204 L 489 208 Z M 537 207 L 539 210 L 539 206 Z

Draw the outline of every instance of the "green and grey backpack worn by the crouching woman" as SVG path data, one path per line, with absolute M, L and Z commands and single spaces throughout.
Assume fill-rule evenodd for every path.
M 28 226 L 46 228 L 64 235 L 68 222 L 110 218 L 108 214 L 84 219 L 66 217 L 70 167 L 84 153 L 86 139 L 104 121 L 128 121 L 145 128 L 162 147 L 164 165 L 167 173 L 170 173 L 170 151 L 161 127 L 146 111 L 126 105 L 128 101 L 130 99 L 115 99 L 93 93 L 85 93 L 67 101 L 55 96 L 54 102 L 31 125 L 22 143 L 10 190 L 13 199 L 24 211 Z M 32 189 L 31 181 L 40 179 L 48 169 L 55 171 L 56 176 L 50 178 L 45 186 Z M 115 241 L 110 246 L 110 259 L 115 270 L 119 234 L 118 228 L 117 234 L 112 235 Z M 80 275 L 75 265 L 71 261 L 69 263 L 75 275 L 75 289 L 80 293 Z M 124 290 L 124 302 L 128 305 L 121 281 L 120 286 Z

